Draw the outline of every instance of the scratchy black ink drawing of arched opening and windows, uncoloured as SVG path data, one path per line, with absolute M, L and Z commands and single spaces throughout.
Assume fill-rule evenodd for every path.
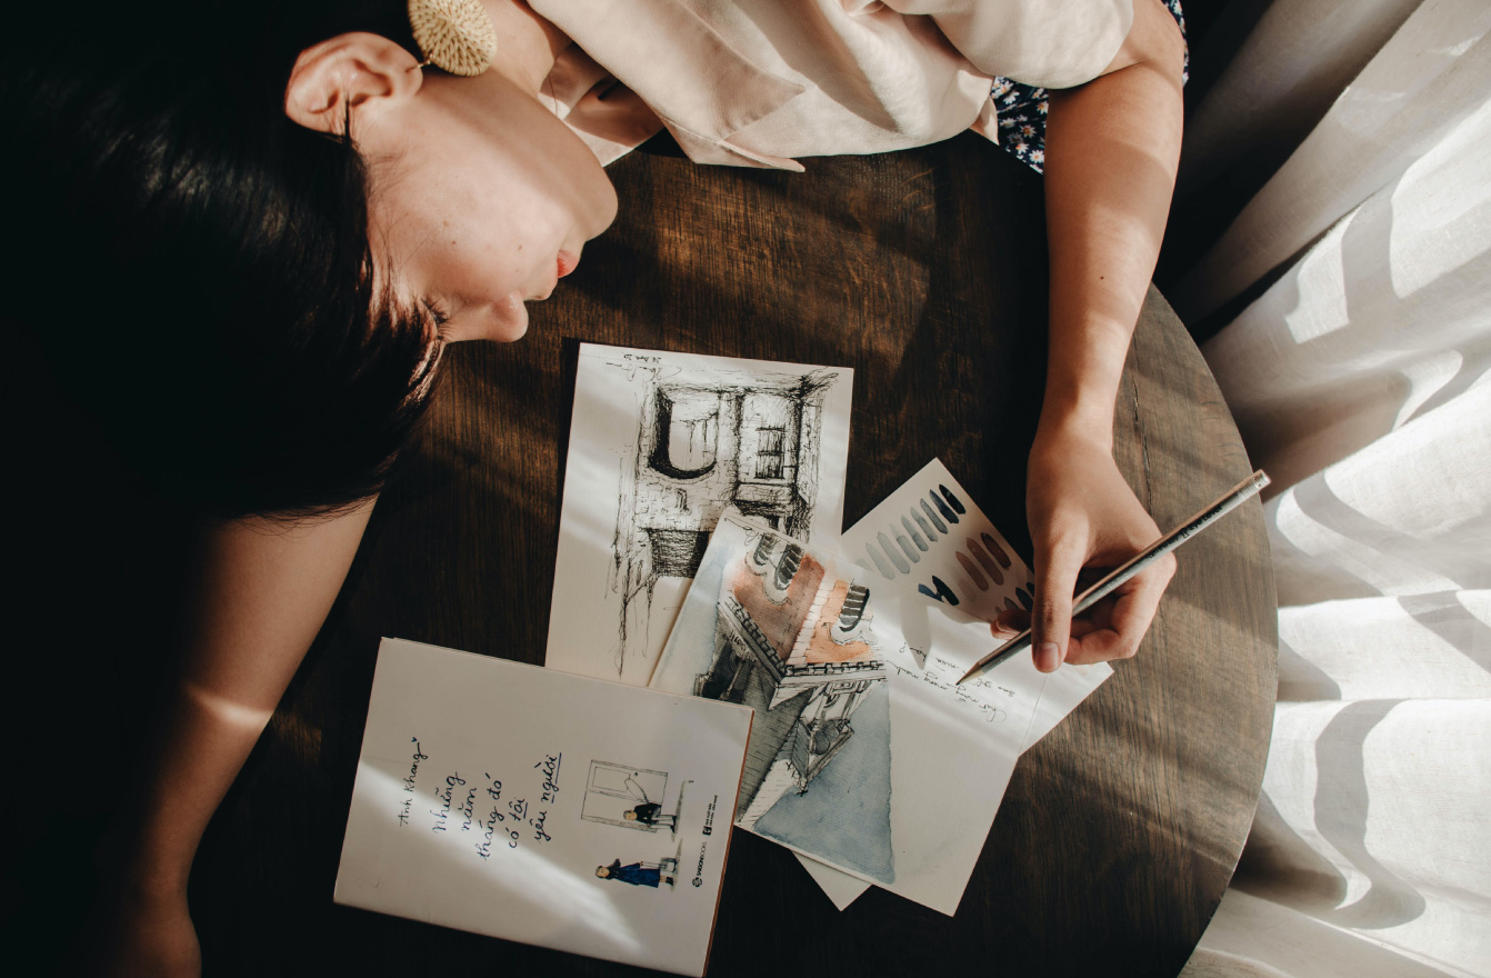
M 641 359 L 641 358 L 638 358 Z M 808 540 L 819 498 L 823 404 L 838 371 L 669 371 L 631 361 L 635 441 L 620 458 L 610 589 L 619 596 L 617 674 L 671 620 L 652 622 L 662 583 L 692 580 L 720 513 L 734 505 Z

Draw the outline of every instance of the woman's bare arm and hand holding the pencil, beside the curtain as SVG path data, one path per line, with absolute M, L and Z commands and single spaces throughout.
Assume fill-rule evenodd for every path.
M 1051 92 L 1051 346 L 1026 489 L 1042 671 L 1132 656 L 1175 568 L 1170 559 L 1135 577 L 1072 622 L 1084 567 L 1117 565 L 1159 537 L 1114 464 L 1112 425 L 1175 186 L 1182 61 L 1184 42 L 1160 0 L 1135 0 L 1133 28 L 1106 72 Z

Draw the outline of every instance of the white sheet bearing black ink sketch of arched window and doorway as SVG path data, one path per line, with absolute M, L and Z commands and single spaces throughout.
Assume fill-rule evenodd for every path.
M 853 380 L 842 367 L 583 344 L 546 665 L 646 686 L 728 505 L 832 544 Z

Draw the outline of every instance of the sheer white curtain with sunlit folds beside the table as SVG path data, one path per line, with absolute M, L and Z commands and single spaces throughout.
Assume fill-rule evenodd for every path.
M 1215 168 L 1339 95 L 1170 291 L 1194 322 L 1272 279 L 1203 346 L 1275 479 L 1281 649 L 1188 978 L 1491 975 L 1488 33 L 1487 0 L 1275 0 L 1194 113 Z

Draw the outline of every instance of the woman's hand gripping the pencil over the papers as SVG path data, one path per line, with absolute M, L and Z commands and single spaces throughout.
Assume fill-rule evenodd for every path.
M 1030 450 L 1026 516 L 1035 544 L 1035 610 L 1029 626 L 1036 668 L 1051 672 L 1062 662 L 1084 665 L 1133 656 L 1175 572 L 1173 556 L 1072 619 L 1079 584 L 1085 587 L 1160 537 L 1118 473 L 1108 444 L 1079 434 L 1038 434 Z M 994 637 L 1020 631 L 1024 617 L 1000 616 Z

